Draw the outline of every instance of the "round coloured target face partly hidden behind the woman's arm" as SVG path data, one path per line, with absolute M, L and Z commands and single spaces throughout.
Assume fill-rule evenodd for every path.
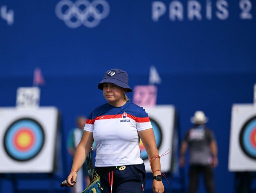
M 153 131 L 154 131 L 154 134 L 155 134 L 155 138 L 156 138 L 156 147 L 157 147 L 157 149 L 159 149 L 160 146 L 161 146 L 161 142 L 162 142 L 162 130 L 161 130 L 159 124 L 158 124 L 154 119 L 152 119 L 152 118 L 150 118 L 150 117 L 149 117 L 149 119 L 150 119 L 150 122 L 151 122 L 151 125 L 152 125 L 152 128 L 153 128 Z M 139 145 L 139 146 L 140 146 L 140 150 L 141 150 L 140 155 L 141 155 L 142 159 L 143 159 L 143 160 L 148 159 L 147 151 L 146 151 L 146 149 L 144 148 L 142 142 L 140 142 L 140 145 Z

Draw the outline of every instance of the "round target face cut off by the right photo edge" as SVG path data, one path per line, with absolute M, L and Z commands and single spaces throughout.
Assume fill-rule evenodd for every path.
M 256 159 L 256 116 L 250 118 L 243 125 L 239 143 L 242 151 L 250 158 Z

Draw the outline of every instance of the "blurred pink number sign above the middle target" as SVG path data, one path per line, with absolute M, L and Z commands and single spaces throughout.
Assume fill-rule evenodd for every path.
M 138 85 L 133 89 L 133 103 L 139 106 L 156 105 L 157 87 L 155 85 Z

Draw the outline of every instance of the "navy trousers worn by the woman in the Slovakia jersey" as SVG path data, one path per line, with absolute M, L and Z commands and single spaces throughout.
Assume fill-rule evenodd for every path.
M 95 170 L 101 170 L 106 167 L 95 167 Z M 110 193 L 112 173 L 100 176 L 102 193 Z M 110 181 L 110 182 L 109 182 Z M 143 193 L 146 186 L 145 165 L 128 165 L 122 171 L 113 171 L 112 193 Z

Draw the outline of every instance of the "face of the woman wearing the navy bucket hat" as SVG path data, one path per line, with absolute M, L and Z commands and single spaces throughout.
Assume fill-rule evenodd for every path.
M 103 84 L 103 95 L 109 104 L 113 106 L 122 106 L 124 101 L 124 95 L 126 89 L 119 87 L 113 83 L 104 83 Z

